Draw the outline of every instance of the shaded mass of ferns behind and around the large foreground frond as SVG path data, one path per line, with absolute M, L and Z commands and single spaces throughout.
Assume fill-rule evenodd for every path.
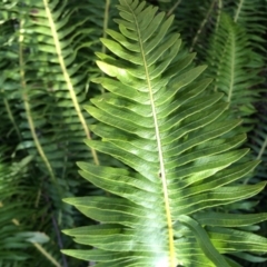
M 244 184 L 267 179 L 267 1 L 149 1 L 179 32 L 182 49 L 208 63 L 209 89 L 225 93 L 231 116 L 243 119 L 245 147 L 260 159 Z M 3 0 L 0 3 L 0 266 L 88 266 L 67 257 L 75 248 L 62 229 L 92 224 L 62 198 L 102 195 L 78 175 L 77 161 L 121 166 L 88 151 L 93 118 L 82 108 L 103 89 L 96 51 L 113 28 L 116 0 Z M 243 202 L 266 211 L 266 191 Z M 267 225 L 258 233 L 267 236 Z M 266 266 L 266 263 L 243 266 Z M 91 264 L 91 263 L 90 263 Z

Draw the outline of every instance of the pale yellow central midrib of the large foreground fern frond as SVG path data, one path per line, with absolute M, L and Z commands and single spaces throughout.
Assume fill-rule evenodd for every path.
M 130 7 L 129 7 L 130 8 Z M 135 12 L 132 12 L 135 16 Z M 156 134 L 156 139 L 157 139 L 157 146 L 158 146 L 158 156 L 159 156 L 159 177 L 162 181 L 162 189 L 164 189 L 164 198 L 165 198 L 165 210 L 166 210 L 166 218 L 167 218 L 167 230 L 168 230 L 168 239 L 169 239 L 169 260 L 170 260 L 170 266 L 169 267 L 176 267 L 177 266 L 177 259 L 176 259 L 176 251 L 175 251 L 175 241 L 174 241 L 174 228 L 172 228 L 172 219 L 171 219 L 171 212 L 170 212 L 170 202 L 169 202 L 169 196 L 168 196 L 168 185 L 167 185 L 167 176 L 166 176 L 166 170 L 165 170 L 165 162 L 164 162 L 164 151 L 162 151 L 162 145 L 161 145 L 161 139 L 160 139 L 160 132 L 159 132 L 159 125 L 158 125 L 158 118 L 157 118 L 157 111 L 156 111 L 156 106 L 155 106 L 155 99 L 152 95 L 152 86 L 151 86 L 151 79 L 149 77 L 149 70 L 148 70 L 148 65 L 147 65 L 147 59 L 146 55 L 144 51 L 144 43 L 142 43 L 142 37 L 140 33 L 140 29 L 138 27 L 137 18 L 135 17 L 136 21 L 136 28 L 138 32 L 138 39 L 140 40 L 140 52 L 142 57 L 142 62 L 144 62 L 144 68 L 146 72 L 146 80 L 148 85 L 148 90 L 149 90 L 149 98 L 150 98 L 150 103 L 151 103 L 151 111 L 152 111 L 152 117 L 154 117 L 154 125 L 155 125 L 155 134 Z

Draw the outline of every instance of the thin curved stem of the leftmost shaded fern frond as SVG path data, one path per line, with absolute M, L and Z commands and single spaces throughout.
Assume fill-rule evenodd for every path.
M 23 20 L 20 23 L 23 24 Z M 53 175 L 52 167 L 51 167 L 51 165 L 50 165 L 50 162 L 49 162 L 49 160 L 48 160 L 48 158 L 47 158 L 47 156 L 46 156 L 46 154 L 44 154 L 44 151 L 43 151 L 43 149 L 41 147 L 41 144 L 40 144 L 39 139 L 38 139 L 38 136 L 37 136 L 37 132 L 36 132 L 36 127 L 34 127 L 34 122 L 33 122 L 32 116 L 31 116 L 29 99 L 28 99 L 28 95 L 27 95 L 27 83 L 26 83 L 26 79 L 24 79 L 24 70 L 23 70 L 24 62 L 23 62 L 22 42 L 23 42 L 23 36 L 20 32 L 20 36 L 19 36 L 19 65 L 20 65 L 21 88 L 23 90 L 23 92 L 22 92 L 22 100 L 23 100 L 23 105 L 24 105 L 27 120 L 28 120 L 28 123 L 29 123 L 29 128 L 30 128 L 31 136 L 32 136 L 34 145 L 36 145 L 36 148 L 37 148 L 37 150 L 38 150 L 42 161 L 44 162 L 52 181 L 56 182 L 56 177 Z

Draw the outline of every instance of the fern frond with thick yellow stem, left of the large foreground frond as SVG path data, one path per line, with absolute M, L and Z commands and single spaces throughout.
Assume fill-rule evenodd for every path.
M 37 130 L 34 138 L 31 130 L 31 136 L 33 139 L 40 137 L 39 144 L 43 148 L 38 149 L 39 155 L 50 176 L 63 174 L 66 177 L 68 172 L 65 169 L 70 169 L 68 167 L 72 166 L 73 160 L 90 157 L 79 146 L 85 137 L 90 138 L 86 122 L 88 116 L 81 108 L 87 97 L 85 85 L 88 83 L 88 58 L 80 52 L 91 43 L 85 38 L 90 34 L 90 29 L 86 32 L 81 27 L 88 19 L 75 20 L 79 6 L 70 6 L 68 1 L 59 4 L 58 1 L 29 0 L 23 9 L 28 14 L 21 20 L 21 30 L 24 32 L 23 52 L 27 51 L 23 55 L 27 59 L 23 69 L 26 79 L 30 80 L 30 85 L 27 85 L 28 93 L 33 92 L 27 96 L 28 101 L 26 99 L 24 102 L 29 102 L 29 109 L 32 110 L 31 115 L 28 112 L 28 118 L 34 116 L 34 109 L 38 110 L 39 118 L 32 117 L 31 120 L 36 121 L 32 128 L 40 129 L 40 135 Z M 76 23 L 70 24 L 70 19 Z M 37 101 L 38 105 L 34 105 Z M 43 132 L 44 129 L 49 130 Z M 98 164 L 93 150 L 91 156 Z M 66 161 L 63 169 L 62 160 Z

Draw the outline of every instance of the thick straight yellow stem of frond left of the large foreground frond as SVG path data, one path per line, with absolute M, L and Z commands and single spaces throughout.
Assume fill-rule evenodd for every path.
M 82 126 L 82 128 L 85 130 L 86 137 L 88 139 L 91 139 L 90 131 L 89 131 L 89 129 L 87 127 L 86 119 L 85 119 L 85 117 L 83 117 L 83 115 L 81 112 L 80 105 L 78 102 L 73 85 L 72 85 L 70 76 L 68 73 L 68 70 L 67 70 L 67 67 L 66 67 L 66 63 L 65 63 L 65 59 L 62 57 L 62 51 L 61 51 L 61 47 L 60 47 L 59 36 L 58 36 L 57 28 L 56 28 L 56 24 L 55 24 L 53 19 L 52 19 L 52 13 L 51 13 L 51 11 L 49 9 L 48 0 L 43 0 L 43 6 L 44 6 L 44 9 L 46 9 L 48 22 L 49 22 L 49 26 L 50 26 L 50 29 L 51 29 L 56 52 L 58 55 L 59 65 L 60 65 L 60 68 L 62 70 L 62 75 L 65 77 L 65 80 L 66 80 L 66 83 L 67 83 L 67 87 L 68 87 L 71 100 L 73 102 L 73 106 L 75 106 L 76 112 L 78 115 L 78 118 L 79 118 L 79 120 L 81 122 L 81 126 Z M 98 159 L 96 150 L 91 149 L 91 154 L 92 154 L 92 158 L 93 158 L 95 164 L 99 165 L 99 159 Z

